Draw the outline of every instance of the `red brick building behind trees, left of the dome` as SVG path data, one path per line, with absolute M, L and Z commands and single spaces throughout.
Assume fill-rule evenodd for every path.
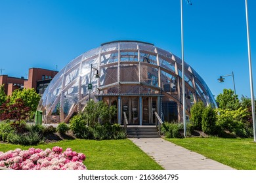
M 51 82 L 58 71 L 51 71 L 41 68 L 30 68 L 28 79 L 24 77 L 15 78 L 8 75 L 0 76 L 0 85 L 5 84 L 5 93 L 12 95 L 18 88 L 34 88 L 37 93 L 43 94 L 45 88 Z

